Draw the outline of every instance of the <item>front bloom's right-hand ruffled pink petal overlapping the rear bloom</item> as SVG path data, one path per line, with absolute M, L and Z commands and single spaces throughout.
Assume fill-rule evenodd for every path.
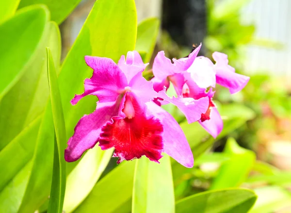
M 162 104 L 172 103 L 176 105 L 179 110 L 185 115 L 188 123 L 193 123 L 201 118 L 201 114 L 206 113 L 209 106 L 209 98 L 204 97 L 198 100 L 194 98 L 182 98 L 181 96 L 168 97 L 165 90 L 158 93 L 159 98 L 164 99 L 160 101 Z

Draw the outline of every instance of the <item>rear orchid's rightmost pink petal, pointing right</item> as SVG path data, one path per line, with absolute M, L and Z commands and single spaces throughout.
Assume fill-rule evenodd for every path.
M 241 91 L 250 78 L 248 76 L 235 73 L 235 69 L 228 65 L 226 54 L 214 52 L 212 57 L 216 62 L 216 82 L 228 88 L 231 94 Z

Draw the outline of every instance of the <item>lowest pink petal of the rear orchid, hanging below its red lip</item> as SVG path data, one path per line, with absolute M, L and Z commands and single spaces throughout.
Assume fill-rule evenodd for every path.
M 216 138 L 223 129 L 223 121 L 216 108 L 211 109 L 209 120 L 205 120 L 203 122 L 199 120 L 199 123 L 214 138 Z

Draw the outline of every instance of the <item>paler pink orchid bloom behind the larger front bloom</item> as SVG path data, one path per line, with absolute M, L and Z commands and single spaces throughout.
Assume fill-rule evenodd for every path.
M 162 91 L 164 86 L 168 88 L 172 82 L 178 97 L 194 99 L 208 97 L 208 110 L 201 114 L 199 123 L 216 138 L 222 131 L 223 121 L 212 101 L 215 93 L 212 91 L 212 87 L 214 88 L 218 83 L 234 94 L 242 90 L 249 81 L 249 77 L 235 73 L 234 68 L 228 65 L 227 55 L 224 53 L 214 52 L 212 54 L 215 65 L 206 57 L 197 57 L 200 48 L 201 44 L 188 57 L 173 59 L 173 63 L 165 57 L 163 51 L 160 51 L 154 60 L 153 74 L 155 77 L 152 82 L 157 92 Z M 159 99 L 157 101 L 163 103 Z

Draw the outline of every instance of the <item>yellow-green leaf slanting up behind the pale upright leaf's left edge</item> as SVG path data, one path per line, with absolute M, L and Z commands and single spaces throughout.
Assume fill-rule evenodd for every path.
M 94 186 L 74 213 L 130 212 L 135 162 L 122 162 Z

